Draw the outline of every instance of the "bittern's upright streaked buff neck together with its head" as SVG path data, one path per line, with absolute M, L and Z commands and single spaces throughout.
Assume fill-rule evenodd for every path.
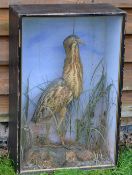
M 83 86 L 83 68 L 79 53 L 80 38 L 70 35 L 64 40 L 66 59 L 63 68 L 63 78 L 72 90 L 73 98 L 78 98 Z

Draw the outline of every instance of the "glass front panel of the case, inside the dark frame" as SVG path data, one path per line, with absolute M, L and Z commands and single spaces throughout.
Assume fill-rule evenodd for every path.
M 114 164 L 121 26 L 23 17 L 21 170 Z

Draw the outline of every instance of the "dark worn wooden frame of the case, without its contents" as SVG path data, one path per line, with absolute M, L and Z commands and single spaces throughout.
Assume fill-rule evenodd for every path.
M 118 158 L 119 126 L 121 117 L 121 95 L 123 87 L 124 38 L 126 13 L 109 4 L 59 4 L 59 5 L 12 5 L 10 16 L 10 45 L 9 45 L 9 140 L 10 157 L 15 163 L 16 171 L 20 171 L 20 128 L 21 128 L 21 44 L 23 17 L 73 17 L 73 16 L 123 16 L 121 34 L 121 53 L 118 81 L 117 131 L 115 145 L 115 164 Z M 88 168 L 108 168 L 97 166 Z M 109 168 L 111 168 L 109 167 Z M 77 168 L 77 167 L 75 167 Z M 86 169 L 86 168 L 85 168 Z M 41 170 L 40 170 L 41 171 Z M 30 171 L 31 172 L 31 171 Z M 35 170 L 39 172 L 39 170 Z

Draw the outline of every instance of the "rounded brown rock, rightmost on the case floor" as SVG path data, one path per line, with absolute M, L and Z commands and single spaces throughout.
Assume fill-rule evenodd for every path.
M 77 152 L 77 158 L 80 161 L 88 161 L 93 159 L 93 154 L 89 150 L 81 150 Z

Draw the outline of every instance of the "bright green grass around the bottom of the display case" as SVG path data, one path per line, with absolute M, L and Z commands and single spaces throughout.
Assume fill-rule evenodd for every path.
M 15 175 L 13 163 L 6 157 L 0 157 L 0 175 Z M 132 175 L 132 149 L 126 148 L 120 151 L 118 165 L 113 170 L 61 170 L 51 175 Z

